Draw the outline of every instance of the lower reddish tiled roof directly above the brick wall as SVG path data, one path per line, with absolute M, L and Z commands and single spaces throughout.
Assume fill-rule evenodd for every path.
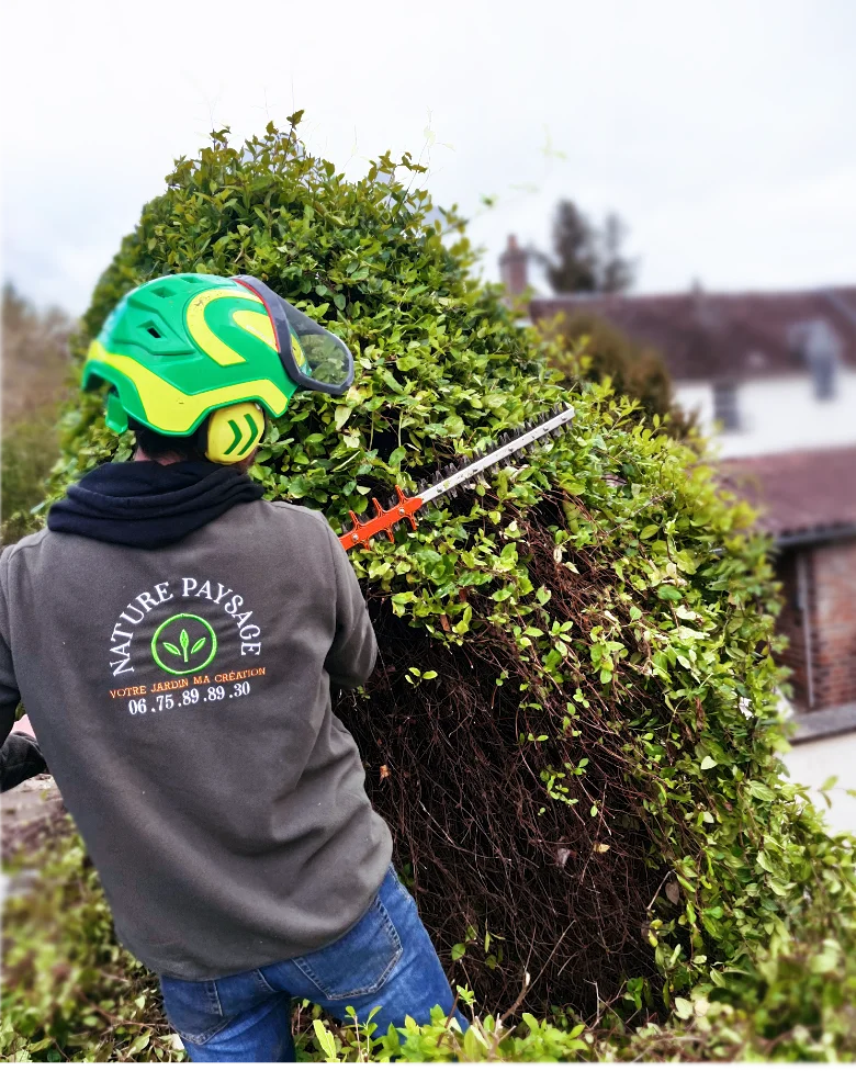
M 740 458 L 719 465 L 725 485 L 762 511 L 778 540 L 856 529 L 856 447 Z

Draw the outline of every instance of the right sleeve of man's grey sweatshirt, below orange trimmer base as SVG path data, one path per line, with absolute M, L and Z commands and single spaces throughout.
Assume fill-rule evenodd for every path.
M 330 541 L 336 588 L 336 635 L 324 668 L 335 687 L 358 688 L 374 668 L 378 641 L 348 554 L 326 521 L 324 527 Z

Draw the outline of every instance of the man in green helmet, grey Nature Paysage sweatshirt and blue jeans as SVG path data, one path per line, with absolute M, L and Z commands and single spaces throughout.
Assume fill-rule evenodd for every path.
M 0 741 L 21 698 L 120 939 L 204 1063 L 292 1062 L 292 999 L 381 1005 L 380 1033 L 452 1011 L 330 707 L 375 659 L 359 585 L 319 514 L 245 474 L 266 412 L 352 375 L 256 279 L 144 284 L 83 369 L 135 460 L 0 557 Z

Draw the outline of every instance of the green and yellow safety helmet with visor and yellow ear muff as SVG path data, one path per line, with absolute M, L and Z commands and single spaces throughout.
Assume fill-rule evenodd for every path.
M 219 421 L 223 443 L 214 452 L 229 463 L 261 437 L 264 421 L 256 427 L 254 412 L 280 417 L 295 391 L 340 395 L 352 381 L 345 343 L 266 283 L 184 273 L 122 298 L 89 348 L 82 385 L 110 385 L 106 424 L 120 435 L 128 417 L 161 435 L 190 436 L 221 414 L 228 419 Z M 258 431 L 249 446 L 245 422 Z

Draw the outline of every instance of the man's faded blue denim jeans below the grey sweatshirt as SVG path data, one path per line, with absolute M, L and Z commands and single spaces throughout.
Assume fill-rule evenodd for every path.
M 343 937 L 296 959 L 209 982 L 161 977 L 164 1005 L 195 1063 L 294 1063 L 291 1002 L 308 1000 L 335 1018 L 350 1005 L 361 1023 L 381 1005 L 374 1037 L 405 1016 L 428 1023 L 452 991 L 416 911 L 390 870 L 371 907 Z M 455 1012 L 461 1027 L 468 1023 Z

